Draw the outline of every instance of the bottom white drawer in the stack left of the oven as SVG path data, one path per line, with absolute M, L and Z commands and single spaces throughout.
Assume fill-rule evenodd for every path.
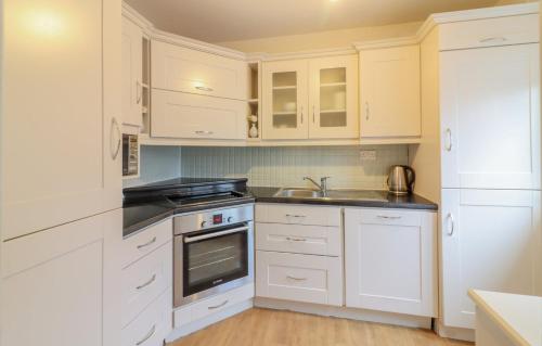
M 171 331 L 171 290 L 166 291 L 151 304 L 136 320 L 122 329 L 122 346 L 163 346 Z

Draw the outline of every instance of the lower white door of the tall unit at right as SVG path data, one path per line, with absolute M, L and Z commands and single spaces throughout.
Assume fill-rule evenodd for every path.
M 475 326 L 469 289 L 542 294 L 540 192 L 442 191 L 443 323 Z

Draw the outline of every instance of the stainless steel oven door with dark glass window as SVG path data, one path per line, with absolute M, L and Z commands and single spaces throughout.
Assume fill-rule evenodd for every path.
M 175 307 L 254 282 L 251 221 L 175 236 Z

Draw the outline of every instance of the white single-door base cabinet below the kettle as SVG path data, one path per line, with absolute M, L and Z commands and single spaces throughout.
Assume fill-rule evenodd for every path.
M 437 317 L 437 214 L 345 209 L 346 306 Z

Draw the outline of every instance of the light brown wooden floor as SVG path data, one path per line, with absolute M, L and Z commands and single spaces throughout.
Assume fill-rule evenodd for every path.
M 431 331 L 305 313 L 250 309 L 168 346 L 450 346 Z

